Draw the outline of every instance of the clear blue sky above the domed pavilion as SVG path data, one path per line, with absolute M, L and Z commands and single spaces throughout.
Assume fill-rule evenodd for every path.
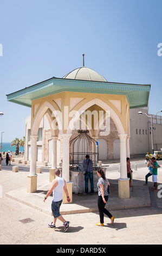
M 25 135 L 31 109 L 6 94 L 85 66 L 108 82 L 151 84 L 149 112 L 162 109 L 161 0 L 1 1 L 0 134 Z M 161 51 L 162 52 L 162 51 Z

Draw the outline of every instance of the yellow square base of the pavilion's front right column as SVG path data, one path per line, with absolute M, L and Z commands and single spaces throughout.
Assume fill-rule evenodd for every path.
M 129 178 L 118 179 L 118 196 L 121 199 L 129 199 Z

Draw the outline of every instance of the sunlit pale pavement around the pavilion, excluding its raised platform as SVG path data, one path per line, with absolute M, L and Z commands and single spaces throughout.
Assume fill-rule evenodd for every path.
M 162 184 L 162 174 L 158 172 L 158 182 Z M 1 245 L 124 245 L 124 244 L 161 244 L 162 198 L 151 191 L 151 178 L 148 186 L 151 207 L 112 210 L 115 222 L 105 217 L 105 226 L 96 227 L 99 222 L 98 212 L 64 215 L 70 221 L 67 233 L 63 233 L 62 223 L 57 220 L 56 229 L 48 228 L 53 217 L 38 211 L 31 206 L 22 204 L 7 196 L 7 193 L 27 186 L 28 172 L 12 173 L 8 170 L 0 171 L 0 184 L 3 187 L 3 197 L 0 198 L 0 243 Z M 133 172 L 135 180 L 141 184 L 147 174 L 147 168 L 140 168 Z M 108 172 L 108 179 L 118 179 L 118 170 Z M 38 184 L 48 184 L 46 173 L 38 175 Z M 21 193 L 18 195 L 21 198 Z M 111 199 L 111 195 L 110 198 Z M 129 200 L 129 199 L 128 199 Z M 111 201 L 111 200 L 110 200 Z M 30 218 L 31 222 L 21 220 Z M 155 231 L 153 231 L 155 230 Z

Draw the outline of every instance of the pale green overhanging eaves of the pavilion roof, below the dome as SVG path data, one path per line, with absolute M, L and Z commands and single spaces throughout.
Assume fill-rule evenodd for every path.
M 49 80 L 37 83 L 34 86 L 26 87 L 22 90 L 18 90 L 15 93 L 8 94 L 7 100 L 23 106 L 31 107 L 32 100 L 40 99 L 42 97 L 64 91 L 78 93 L 114 94 L 126 95 L 129 106 L 131 108 L 139 105 L 143 106 L 143 104 L 146 106 L 148 104 L 150 88 L 151 84 L 95 82 L 53 77 Z M 143 94 L 142 99 L 141 93 Z

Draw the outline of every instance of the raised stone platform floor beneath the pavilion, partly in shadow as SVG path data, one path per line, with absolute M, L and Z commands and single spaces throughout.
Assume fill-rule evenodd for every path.
M 147 186 L 138 185 L 139 181 L 134 180 L 133 188 L 130 188 L 130 198 L 120 199 L 118 197 L 118 189 L 116 185 L 111 182 L 111 194 L 109 194 L 109 199 L 107 203 L 107 208 L 109 210 L 123 210 L 123 209 L 133 209 L 133 208 L 143 208 L 150 207 L 150 193 Z M 42 211 L 46 214 L 51 214 L 51 196 L 43 202 L 44 196 L 46 195 L 48 189 L 50 188 L 50 183 L 44 186 L 37 186 L 37 192 L 28 193 L 26 188 L 20 188 L 18 190 L 10 191 L 5 195 L 11 199 L 17 200 L 20 203 L 28 205 L 36 210 Z M 21 197 L 20 197 L 21 195 Z M 86 212 L 96 212 L 98 211 L 97 205 L 98 195 L 88 194 L 73 194 L 73 202 L 68 204 L 62 204 L 60 208 L 60 213 L 62 215 L 69 214 L 79 214 Z

